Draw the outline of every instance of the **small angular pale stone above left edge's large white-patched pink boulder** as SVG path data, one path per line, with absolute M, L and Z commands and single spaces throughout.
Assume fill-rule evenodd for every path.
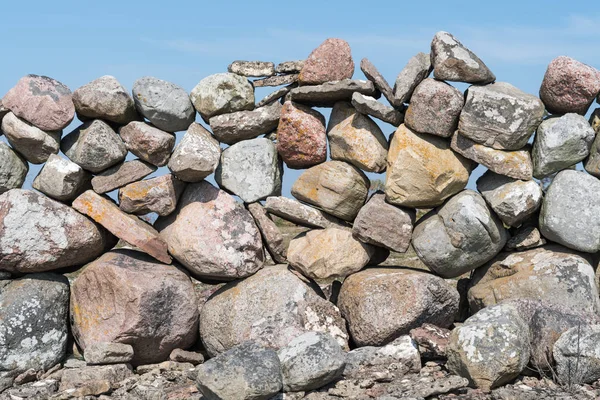
M 31 186 L 58 201 L 75 199 L 88 189 L 92 175 L 74 162 L 52 154 Z

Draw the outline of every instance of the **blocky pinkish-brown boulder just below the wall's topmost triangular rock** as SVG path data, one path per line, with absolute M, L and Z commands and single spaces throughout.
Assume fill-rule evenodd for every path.
M 427 78 L 415 88 L 404 123 L 415 132 L 450 137 L 458 126 L 464 102 L 460 90 Z

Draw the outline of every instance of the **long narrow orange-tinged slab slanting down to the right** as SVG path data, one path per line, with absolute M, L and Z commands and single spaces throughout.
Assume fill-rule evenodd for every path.
M 161 262 L 171 263 L 167 244 L 158 232 L 137 217 L 124 213 L 107 198 L 87 190 L 73 201 L 72 207 L 104 226 L 119 239 Z

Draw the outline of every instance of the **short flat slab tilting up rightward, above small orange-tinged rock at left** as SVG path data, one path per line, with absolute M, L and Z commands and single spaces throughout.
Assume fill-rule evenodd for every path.
M 156 171 L 154 165 L 142 160 L 125 161 L 93 177 L 92 187 L 94 192 L 99 194 L 111 192 L 128 183 L 139 181 L 154 171 Z

